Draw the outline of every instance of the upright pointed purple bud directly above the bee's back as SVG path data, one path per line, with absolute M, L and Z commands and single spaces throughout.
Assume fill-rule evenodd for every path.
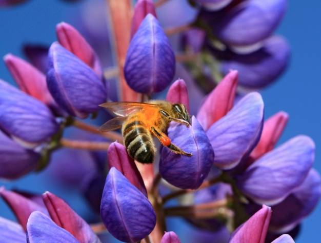
M 129 44 L 124 73 L 133 90 L 148 94 L 164 90 L 174 77 L 174 52 L 152 14 L 144 18 Z

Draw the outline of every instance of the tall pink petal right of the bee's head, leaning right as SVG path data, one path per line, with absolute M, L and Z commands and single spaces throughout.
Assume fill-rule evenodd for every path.
M 238 72 L 230 71 L 207 96 L 197 113 L 197 120 L 207 130 L 233 107 Z

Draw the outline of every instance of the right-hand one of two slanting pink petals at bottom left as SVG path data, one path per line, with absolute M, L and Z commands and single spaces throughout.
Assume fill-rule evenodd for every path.
M 43 199 L 50 217 L 57 226 L 67 230 L 81 243 L 99 242 L 87 222 L 76 214 L 63 199 L 50 192 L 45 192 Z

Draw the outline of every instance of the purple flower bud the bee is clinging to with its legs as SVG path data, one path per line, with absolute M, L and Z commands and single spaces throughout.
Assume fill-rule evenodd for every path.
M 159 162 L 159 172 L 175 187 L 198 188 L 210 172 L 214 161 L 214 151 L 202 126 L 195 116 L 192 126 L 171 124 L 168 136 L 172 143 L 192 156 L 173 153 L 164 147 Z

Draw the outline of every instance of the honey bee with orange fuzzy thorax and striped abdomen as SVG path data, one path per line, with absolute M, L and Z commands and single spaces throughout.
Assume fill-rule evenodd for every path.
M 165 134 L 170 122 L 189 127 L 190 116 L 183 104 L 171 104 L 164 100 L 151 100 L 148 103 L 108 102 L 99 105 L 107 108 L 116 117 L 108 120 L 101 128 L 107 132 L 122 128 L 124 144 L 128 154 L 140 163 L 152 163 L 155 157 L 155 145 L 152 135 L 160 143 L 176 154 L 192 156 L 176 145 Z

